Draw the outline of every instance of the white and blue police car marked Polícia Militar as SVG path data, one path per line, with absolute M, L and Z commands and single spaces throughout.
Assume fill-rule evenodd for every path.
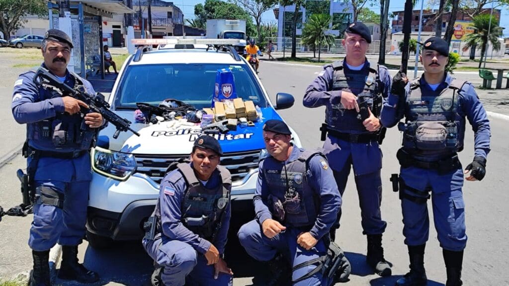
M 197 109 L 207 108 L 211 107 L 217 70 L 230 70 L 238 97 L 253 101 L 262 115 L 252 126 L 211 135 L 221 144 L 221 164 L 232 174 L 234 212 L 243 209 L 236 209 L 241 202 L 252 204 L 258 164 L 267 155 L 263 122 L 281 119 L 276 110 L 294 103 L 293 96 L 284 93 L 276 95 L 275 105 L 271 103 L 256 73 L 233 49 L 236 41 L 239 40 L 135 39 L 137 51 L 120 70 L 108 99 L 111 110 L 130 121 L 134 121 L 139 102 L 157 106 L 172 98 Z M 153 45 L 158 48 L 152 49 Z M 133 123 L 131 127 L 139 137 L 122 132 L 116 139 L 113 125 L 101 130 L 97 147 L 91 152 L 93 180 L 87 237 L 92 247 L 143 237 L 143 224 L 154 210 L 166 168 L 188 157 L 193 141 L 202 133 L 196 126 L 170 125 L 173 124 Z M 293 142 L 301 146 L 295 133 Z

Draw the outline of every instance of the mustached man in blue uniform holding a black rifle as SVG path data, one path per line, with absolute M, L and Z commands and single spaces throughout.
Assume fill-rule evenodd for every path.
M 90 82 L 67 70 L 72 48 L 67 34 L 48 30 L 41 46 L 42 67 L 70 87 L 82 85 L 94 94 Z M 36 85 L 34 75 L 33 71 L 21 74 L 12 97 L 14 119 L 27 125 L 27 173 L 36 189 L 29 239 L 34 258 L 31 283 L 51 284 L 48 255 L 57 242 L 62 245 L 59 278 L 95 282 L 97 273 L 78 264 L 77 252 L 85 233 L 92 180 L 89 150 L 103 118 L 100 113 L 83 114 L 80 109 L 88 105 L 80 100 Z

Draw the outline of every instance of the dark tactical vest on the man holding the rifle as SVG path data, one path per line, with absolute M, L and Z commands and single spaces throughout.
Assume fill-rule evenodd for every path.
M 83 85 L 81 77 L 75 73 L 71 75 L 74 77 L 74 88 Z M 39 101 L 64 96 L 47 86 L 39 86 Z M 84 124 L 83 117 L 81 112 L 74 115 L 57 113 L 55 117 L 28 124 L 27 138 L 47 149 L 68 152 L 89 150 L 97 131 Z

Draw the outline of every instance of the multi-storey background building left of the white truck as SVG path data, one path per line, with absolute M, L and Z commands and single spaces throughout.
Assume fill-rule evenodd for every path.
M 141 38 L 141 30 L 149 30 L 149 2 L 151 3 L 152 37 L 162 38 L 163 36 L 173 36 L 175 24 L 184 24 L 184 14 L 180 8 L 175 6 L 173 2 L 164 2 L 161 0 L 132 0 L 133 10 L 136 11 L 133 17 L 134 37 Z

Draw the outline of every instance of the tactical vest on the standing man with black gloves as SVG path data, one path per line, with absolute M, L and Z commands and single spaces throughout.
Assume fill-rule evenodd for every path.
M 423 95 L 420 78 L 410 82 L 405 107 L 403 149 L 414 157 L 441 159 L 459 151 L 458 92 L 464 80 L 454 79 L 438 96 Z

